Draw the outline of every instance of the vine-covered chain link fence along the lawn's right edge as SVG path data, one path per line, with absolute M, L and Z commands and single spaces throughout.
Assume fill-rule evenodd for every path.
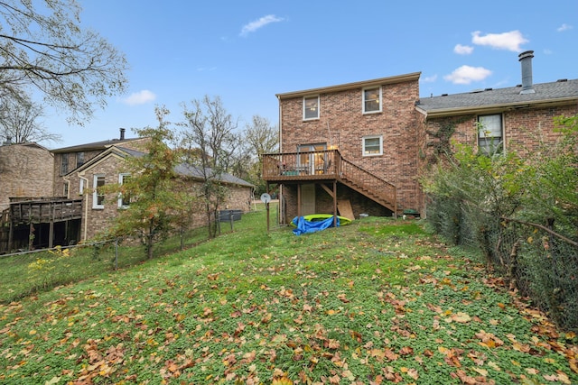
M 578 330 L 578 242 L 564 218 L 537 224 L 492 215 L 460 197 L 430 198 L 427 218 L 436 233 L 478 248 L 509 289 L 530 298 L 562 328 Z

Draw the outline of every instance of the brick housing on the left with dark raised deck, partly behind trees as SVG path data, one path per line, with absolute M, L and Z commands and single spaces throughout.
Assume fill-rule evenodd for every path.
M 33 143 L 0 147 L 0 253 L 14 249 L 52 247 L 87 241 L 110 225 L 129 202 L 105 197 L 96 188 L 122 183 L 126 157 L 142 156 L 149 138 L 120 138 L 48 151 Z M 194 188 L 200 173 L 181 165 L 177 172 Z M 254 186 L 225 174 L 229 188 L 222 208 L 248 211 Z M 10 198 L 10 199 L 8 199 Z M 202 209 L 192 225 L 206 223 Z

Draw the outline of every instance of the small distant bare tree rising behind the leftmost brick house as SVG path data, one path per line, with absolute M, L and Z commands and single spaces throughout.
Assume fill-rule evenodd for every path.
M 50 133 L 39 119 L 42 118 L 41 105 L 30 100 L 3 99 L 0 102 L 0 138 L 14 143 L 61 142 L 61 135 Z

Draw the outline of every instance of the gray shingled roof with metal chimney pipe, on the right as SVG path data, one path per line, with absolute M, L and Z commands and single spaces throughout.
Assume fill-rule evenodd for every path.
M 533 94 L 520 95 L 522 86 L 486 88 L 463 94 L 422 97 L 415 107 L 424 115 L 471 114 L 484 110 L 523 108 L 530 105 L 564 105 L 578 102 L 578 79 L 533 86 Z

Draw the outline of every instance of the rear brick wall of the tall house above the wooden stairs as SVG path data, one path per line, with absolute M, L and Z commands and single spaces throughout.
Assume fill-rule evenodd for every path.
M 419 208 L 417 80 L 382 86 L 382 112 L 362 114 L 362 87 L 320 94 L 320 118 L 303 121 L 303 97 L 282 98 L 282 151 L 326 142 L 341 156 L 396 185 L 398 206 Z M 383 135 L 383 155 L 362 156 L 362 138 Z M 289 212 L 289 209 L 288 209 Z

